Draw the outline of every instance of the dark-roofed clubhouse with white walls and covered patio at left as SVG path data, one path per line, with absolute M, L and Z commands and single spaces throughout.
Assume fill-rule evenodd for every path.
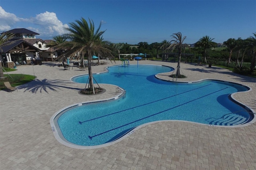
M 46 41 L 36 38 L 39 35 L 36 32 L 27 30 L 26 28 L 17 28 L 4 33 L 15 34 L 11 40 L 14 43 L 1 47 L 0 60 L 3 61 L 5 67 L 12 68 L 14 63 L 22 65 L 30 64 L 32 61 L 54 61 L 57 52 L 49 47 L 45 47 Z

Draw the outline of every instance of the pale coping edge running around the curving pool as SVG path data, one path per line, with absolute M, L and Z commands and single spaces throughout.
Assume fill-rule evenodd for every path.
M 118 64 L 119 65 L 119 64 Z M 152 65 L 152 64 L 146 64 L 146 65 Z M 154 64 L 155 65 L 155 64 Z M 112 66 L 116 66 L 116 65 L 112 65 Z M 112 66 L 108 66 L 108 67 L 112 67 Z M 162 65 L 162 66 L 166 66 L 166 65 Z M 105 67 L 105 68 L 108 68 L 108 67 Z M 166 66 L 166 67 L 170 67 L 170 66 Z M 171 67 L 173 68 L 173 67 Z M 94 73 L 94 74 L 100 74 L 100 73 L 106 73 L 108 72 L 107 71 L 103 71 L 103 72 L 99 72 L 99 73 Z M 170 71 L 171 72 L 171 71 Z M 166 72 L 168 73 L 168 72 Z M 161 74 L 161 73 L 158 73 L 158 74 Z M 173 83 L 200 83 L 202 81 L 222 81 L 222 82 L 228 82 L 228 83 L 234 83 L 234 84 L 237 84 L 237 85 L 242 85 L 244 87 L 246 87 L 248 90 L 247 91 L 240 91 L 240 92 L 236 92 L 236 93 L 246 93 L 246 92 L 249 92 L 252 90 L 252 88 L 246 86 L 246 85 L 243 85 L 243 84 L 240 84 L 240 83 L 235 83 L 235 82 L 232 82 L 232 81 L 223 81 L 223 80 L 219 80 L 219 79 L 200 79 L 198 81 L 171 81 L 171 80 L 166 80 L 166 79 L 162 79 L 160 77 L 157 77 L 157 75 L 155 75 L 155 77 L 157 79 L 160 79 L 160 80 L 163 80 L 163 81 L 169 81 L 169 82 L 173 82 Z M 82 74 L 82 75 L 88 75 L 88 74 Z M 80 75 L 76 75 L 76 76 L 73 76 L 70 78 L 70 80 L 72 81 L 72 78 L 74 77 L 77 77 L 77 76 L 80 76 Z M 99 84 L 104 84 L 104 83 L 99 83 Z M 108 84 L 109 85 L 109 84 Z M 117 85 L 114 85 L 116 87 L 118 87 Z M 122 88 L 123 89 L 123 88 Z M 124 89 L 125 91 L 125 89 Z M 236 128 L 236 127 L 245 127 L 245 126 L 248 126 L 250 124 L 253 124 L 256 122 L 256 112 L 248 107 L 247 105 L 245 105 L 244 103 L 236 100 L 234 98 L 234 95 L 236 93 L 232 93 L 228 96 L 228 98 L 233 101 L 234 103 L 240 105 L 241 107 L 243 107 L 244 109 L 246 109 L 246 111 L 249 113 L 249 114 L 252 114 L 254 115 L 254 118 L 250 121 L 250 122 L 246 122 L 244 124 L 241 124 L 241 125 L 232 125 L 232 126 L 222 126 L 222 125 L 209 125 L 209 124 L 204 124 L 204 123 L 197 123 L 197 122 L 192 122 L 192 121 L 182 121 L 182 120 L 162 120 L 162 121 L 153 121 L 153 122 L 149 122 L 149 123 L 145 123 L 145 124 L 142 124 L 142 125 L 139 125 L 137 127 L 134 127 L 132 128 L 130 131 L 128 131 L 126 134 L 120 136 L 119 138 L 117 138 L 116 140 L 113 140 L 112 142 L 108 142 L 108 143 L 105 143 L 105 144 L 100 144 L 100 145 L 95 145 L 95 146 L 82 146 L 82 145 L 78 145 L 78 144 L 74 144 L 74 143 L 71 143 L 69 142 L 68 140 L 66 140 L 64 138 L 64 136 L 62 135 L 62 132 L 59 128 L 59 126 L 56 126 L 55 123 L 56 121 L 54 121 L 54 119 L 56 117 L 58 117 L 61 113 L 63 113 L 64 111 L 66 110 L 69 110 L 69 109 L 72 109 L 74 107 L 80 107 L 82 105 L 90 105 L 90 104 L 95 104 L 95 103 L 104 103 L 104 102 L 109 102 L 109 101 L 114 101 L 116 99 L 120 99 L 121 97 L 123 97 L 124 93 L 121 93 L 119 95 L 117 95 L 116 97 L 113 97 L 113 98 L 108 98 L 108 99 L 105 99 L 105 100 L 95 100 L 95 101 L 88 101 L 88 102 L 80 102 L 80 103 L 76 103 L 74 105 L 69 105 L 63 109 L 60 109 L 59 111 L 57 111 L 54 115 L 52 115 L 52 117 L 50 118 L 50 125 L 52 127 L 52 132 L 54 133 L 54 136 L 56 138 L 56 140 L 58 140 L 58 142 L 60 142 L 61 144 L 65 145 L 65 146 L 68 146 L 68 147 L 71 147 L 71 148 L 77 148 L 77 149 L 95 149 L 95 148 L 102 148 L 102 147 L 106 147 L 106 146 L 110 146 L 110 145 L 113 145 L 117 142 L 120 142 L 121 140 L 123 140 L 124 138 L 130 136 L 133 132 L 135 132 L 137 129 L 139 128 L 142 128 L 142 127 L 145 127 L 147 125 L 150 125 L 150 124 L 153 124 L 153 123 L 159 123 L 159 122 L 187 122 L 187 123 L 195 123 L 195 124 L 198 124 L 198 125 L 205 125 L 205 126 L 208 126 L 208 127 L 223 127 L 223 128 Z

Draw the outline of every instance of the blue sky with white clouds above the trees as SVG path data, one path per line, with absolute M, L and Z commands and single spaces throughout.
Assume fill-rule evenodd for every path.
M 0 32 L 26 28 L 52 40 L 81 18 L 101 23 L 112 43 L 160 43 L 177 32 L 184 43 L 223 43 L 256 33 L 256 0 L 0 0 Z

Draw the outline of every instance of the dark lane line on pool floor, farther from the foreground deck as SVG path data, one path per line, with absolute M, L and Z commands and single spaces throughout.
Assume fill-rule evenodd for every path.
M 212 85 L 212 84 L 208 84 L 208 85 Z M 182 92 L 182 93 L 179 93 L 179 94 L 176 94 L 176 95 L 172 95 L 172 96 L 169 96 L 169 97 L 166 97 L 166 98 L 163 98 L 163 99 L 159 99 L 159 100 L 156 100 L 156 101 L 152 101 L 152 102 L 150 102 L 150 103 L 145 103 L 145 104 L 143 104 L 143 105 L 131 107 L 131 108 L 129 108 L 129 109 L 125 109 L 125 110 L 122 110 L 122 111 L 119 111 L 119 112 L 110 113 L 110 114 L 108 114 L 108 115 L 104 115 L 104 116 L 101 116 L 101 117 L 96 117 L 96 118 L 93 118 L 93 119 L 89 119 L 89 120 L 87 120 L 87 121 L 83 121 L 83 122 L 79 121 L 78 123 L 79 123 L 80 125 L 82 125 L 82 124 L 85 123 L 85 122 L 89 122 L 89 121 L 93 121 L 93 120 L 96 120 L 96 119 L 100 119 L 100 118 L 102 118 L 102 117 L 107 117 L 107 116 L 110 116 L 110 115 L 114 115 L 114 114 L 116 114 L 116 113 L 121 113 L 121 112 L 124 112 L 124 111 L 128 111 L 128 110 L 130 110 L 130 109 L 135 109 L 135 108 L 137 108 L 137 107 L 142 107 L 142 106 L 145 106 L 145 105 L 149 105 L 149 104 L 152 104 L 152 103 L 155 103 L 155 102 L 158 102 L 158 101 L 162 101 L 162 100 L 165 100 L 165 99 L 168 99 L 168 98 L 177 96 L 177 95 L 181 95 L 181 94 L 184 94 L 184 93 L 188 93 L 188 92 L 190 92 L 190 91 L 193 91 L 193 90 L 197 90 L 197 89 L 206 87 L 206 86 L 208 86 L 208 85 L 205 85 L 205 86 L 202 86 L 202 87 L 198 87 L 198 88 L 196 88 L 196 89 L 192 89 L 192 90 L 189 90 L 189 91 L 185 91 L 185 92 Z

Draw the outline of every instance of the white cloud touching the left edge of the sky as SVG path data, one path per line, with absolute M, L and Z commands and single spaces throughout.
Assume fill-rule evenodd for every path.
M 18 18 L 16 15 L 11 14 L 9 12 L 6 12 L 1 6 L 0 6 L 0 31 L 7 31 L 10 30 L 10 28 L 16 24 L 16 22 L 19 22 L 21 18 Z

